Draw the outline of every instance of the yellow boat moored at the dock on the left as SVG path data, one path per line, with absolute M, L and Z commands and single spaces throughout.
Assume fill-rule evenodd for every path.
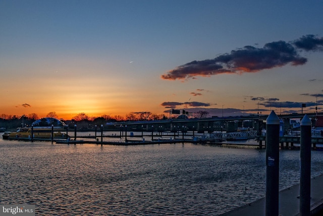
M 61 129 L 61 127 L 59 127 Z M 6 132 L 2 135 L 4 140 L 19 140 L 19 139 L 66 139 L 66 134 L 58 131 L 59 128 L 52 127 L 18 127 L 16 132 Z

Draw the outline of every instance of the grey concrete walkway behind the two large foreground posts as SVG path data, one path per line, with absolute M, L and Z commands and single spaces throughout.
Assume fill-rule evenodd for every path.
M 279 214 L 295 216 L 299 214 L 299 184 L 279 192 Z M 323 175 L 311 179 L 311 215 L 323 209 Z M 250 204 L 233 209 L 221 216 L 265 215 L 265 197 Z

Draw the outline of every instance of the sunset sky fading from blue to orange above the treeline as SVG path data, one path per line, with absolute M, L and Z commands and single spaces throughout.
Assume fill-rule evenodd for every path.
M 0 114 L 323 111 L 323 1 L 0 1 Z M 195 109 L 193 109 L 195 108 Z

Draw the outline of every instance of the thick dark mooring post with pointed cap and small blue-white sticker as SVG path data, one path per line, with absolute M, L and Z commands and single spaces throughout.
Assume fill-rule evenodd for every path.
M 274 110 L 266 119 L 266 216 L 277 216 L 279 205 L 279 124 Z

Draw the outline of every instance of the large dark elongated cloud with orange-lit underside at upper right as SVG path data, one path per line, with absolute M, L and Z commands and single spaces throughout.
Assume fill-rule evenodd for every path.
M 282 67 L 287 64 L 303 65 L 307 59 L 300 56 L 300 51 L 322 51 L 323 38 L 305 35 L 292 42 L 269 42 L 263 48 L 245 46 L 220 55 L 214 59 L 192 61 L 178 66 L 166 74 L 163 79 L 189 79 L 195 76 L 211 76 L 222 73 L 258 72 L 264 69 Z

